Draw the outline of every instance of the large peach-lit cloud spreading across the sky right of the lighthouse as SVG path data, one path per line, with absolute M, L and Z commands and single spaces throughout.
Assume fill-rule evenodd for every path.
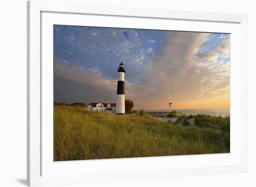
M 229 37 L 198 58 L 209 33 L 172 32 L 163 50 L 156 54 L 141 77 L 141 87 L 133 90 L 138 106 L 152 108 L 203 100 L 229 93 L 229 62 L 209 65 L 219 57 L 229 57 Z M 136 103 L 136 102 L 135 102 Z M 196 106 L 195 106 L 196 107 Z

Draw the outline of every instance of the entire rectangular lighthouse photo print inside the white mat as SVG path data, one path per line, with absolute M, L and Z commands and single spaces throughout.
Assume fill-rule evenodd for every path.
M 54 25 L 54 161 L 230 153 L 230 34 Z

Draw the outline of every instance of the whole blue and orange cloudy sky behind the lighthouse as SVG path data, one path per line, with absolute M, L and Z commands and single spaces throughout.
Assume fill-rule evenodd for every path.
M 54 26 L 54 101 L 116 101 L 123 62 L 134 109 L 229 108 L 230 34 Z

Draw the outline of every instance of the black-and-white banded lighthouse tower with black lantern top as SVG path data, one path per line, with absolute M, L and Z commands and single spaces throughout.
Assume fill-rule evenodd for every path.
M 125 68 L 123 67 L 123 63 L 119 65 L 119 68 L 117 69 L 118 75 L 117 75 L 117 97 L 116 97 L 116 108 L 115 113 L 116 114 L 124 114 L 125 113 L 125 94 L 124 94 L 124 73 Z

